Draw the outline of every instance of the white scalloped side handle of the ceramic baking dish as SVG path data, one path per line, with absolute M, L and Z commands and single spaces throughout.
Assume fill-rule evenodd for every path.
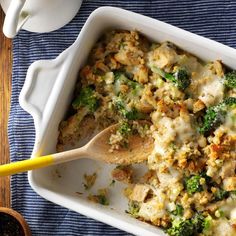
M 38 60 L 28 68 L 24 86 L 19 96 L 21 107 L 32 115 L 36 133 L 42 134 L 52 113 L 64 78 L 70 72 L 73 47 L 63 51 L 54 60 Z

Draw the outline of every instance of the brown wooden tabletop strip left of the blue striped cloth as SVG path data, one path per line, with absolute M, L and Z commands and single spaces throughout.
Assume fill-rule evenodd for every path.
M 2 33 L 4 13 L 0 9 L 0 164 L 10 161 L 7 122 L 10 110 L 12 41 Z M 0 177 L 0 206 L 10 207 L 10 178 Z

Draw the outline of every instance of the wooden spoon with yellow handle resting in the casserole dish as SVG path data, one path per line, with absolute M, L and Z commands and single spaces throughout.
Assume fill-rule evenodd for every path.
M 116 132 L 118 126 L 118 124 L 109 126 L 81 148 L 1 165 L 0 176 L 12 175 L 80 158 L 122 165 L 141 163 L 147 160 L 153 150 L 154 141 L 151 137 L 142 138 L 139 134 L 129 136 L 128 148 L 123 147 L 110 152 L 109 138 L 111 134 Z

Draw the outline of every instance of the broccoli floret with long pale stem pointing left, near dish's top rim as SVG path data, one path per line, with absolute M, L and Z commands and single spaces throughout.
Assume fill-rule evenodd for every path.
M 154 73 L 174 83 L 180 90 L 185 90 L 191 83 L 188 72 L 183 68 L 180 68 L 174 74 L 166 73 L 156 66 L 153 66 L 151 69 Z

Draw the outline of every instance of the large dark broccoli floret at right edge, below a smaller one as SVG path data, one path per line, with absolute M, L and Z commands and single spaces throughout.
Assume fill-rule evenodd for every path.
M 224 122 L 229 107 L 236 105 L 235 97 L 228 97 L 216 106 L 209 107 L 203 117 L 203 125 L 199 128 L 201 134 L 207 134 Z

